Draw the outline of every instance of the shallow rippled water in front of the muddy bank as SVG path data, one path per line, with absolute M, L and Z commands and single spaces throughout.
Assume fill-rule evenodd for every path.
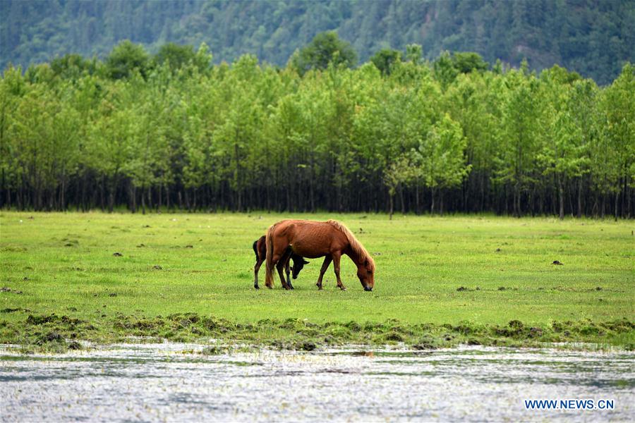
M 2 421 L 635 420 L 635 354 L 463 347 L 205 356 L 175 343 L 0 350 Z M 526 410 L 529 399 L 613 410 Z

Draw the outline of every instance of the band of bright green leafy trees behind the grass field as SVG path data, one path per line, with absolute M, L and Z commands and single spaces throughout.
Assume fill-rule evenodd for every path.
M 121 42 L 0 80 L 12 209 L 633 214 L 635 68 L 610 85 L 335 32 L 284 68 Z

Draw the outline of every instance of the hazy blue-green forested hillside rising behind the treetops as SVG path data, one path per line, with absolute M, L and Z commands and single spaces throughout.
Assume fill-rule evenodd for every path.
M 476 51 L 531 68 L 555 63 L 615 79 L 635 60 L 635 2 L 466 1 L 0 1 L 0 67 L 79 53 L 104 57 L 121 39 L 156 52 L 167 42 L 205 42 L 214 61 L 252 53 L 280 66 L 317 32 L 337 30 L 360 62 L 384 48 Z

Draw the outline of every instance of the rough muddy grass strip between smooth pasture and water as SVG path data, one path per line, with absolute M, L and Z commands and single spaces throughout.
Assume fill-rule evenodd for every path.
M 23 321 L 0 321 L 0 343 L 21 345 L 23 353 L 63 353 L 81 350 L 83 341 L 97 345 L 121 343 L 131 336 L 145 342 L 204 343 L 217 339 L 257 348 L 312 351 L 337 345 L 405 345 L 413 350 L 437 350 L 458 345 L 543 347 L 600 345 L 635 350 L 635 321 L 615 319 L 552 321 L 530 325 L 519 320 L 507 324 L 409 324 L 398 320 L 382 323 L 356 321 L 313 323 L 306 319 L 262 319 L 241 324 L 195 313 L 167 317 L 119 314 L 114 318 L 86 321 L 57 314 L 29 314 Z M 224 347 L 223 347 L 224 348 Z M 219 347 L 217 353 L 225 349 Z M 573 347 L 577 348 L 578 347 Z

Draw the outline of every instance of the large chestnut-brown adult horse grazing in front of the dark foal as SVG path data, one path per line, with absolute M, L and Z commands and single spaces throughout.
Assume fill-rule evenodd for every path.
M 291 248 L 289 248 L 291 247 Z M 364 290 L 373 290 L 375 286 L 375 261 L 368 251 L 355 238 L 349 228 L 341 223 L 329 220 L 325 222 L 284 220 L 274 223 L 267 230 L 267 288 L 273 286 L 274 266 L 278 269 L 282 286 L 290 289 L 282 276 L 282 266 L 291 254 L 314 259 L 324 257 L 317 288 L 322 289 L 322 277 L 333 262 L 337 286 L 346 290 L 339 277 L 339 259 L 345 254 L 357 266 L 357 277 Z

